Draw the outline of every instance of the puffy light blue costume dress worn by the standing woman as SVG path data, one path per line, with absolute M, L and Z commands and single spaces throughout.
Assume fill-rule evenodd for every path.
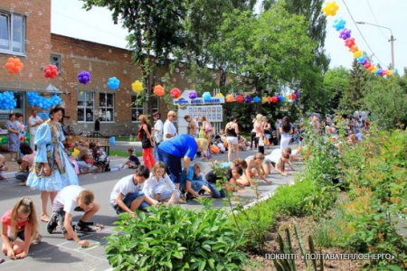
M 48 120 L 39 126 L 34 142 L 37 154 L 27 179 L 28 186 L 40 191 L 56 192 L 65 186 L 79 183 L 78 175 L 64 151 L 64 140 L 60 123 L 52 126 L 52 122 Z M 46 164 L 51 168 L 50 176 L 43 173 Z

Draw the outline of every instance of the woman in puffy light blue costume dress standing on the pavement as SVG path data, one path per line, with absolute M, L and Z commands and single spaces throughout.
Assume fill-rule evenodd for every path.
M 48 197 L 52 203 L 63 187 L 78 184 L 78 175 L 62 144 L 65 136 L 60 121 L 64 115 L 63 107 L 54 106 L 50 110 L 50 119 L 39 126 L 34 142 L 37 154 L 27 179 L 28 186 L 41 191 L 41 220 L 45 222 L 50 220 L 47 213 Z

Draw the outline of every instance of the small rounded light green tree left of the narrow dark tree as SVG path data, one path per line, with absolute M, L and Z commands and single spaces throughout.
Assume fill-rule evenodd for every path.
M 327 70 L 324 75 L 324 102 L 322 113 L 334 113 L 339 108 L 339 102 L 346 89 L 349 88 L 349 70 L 337 67 Z M 324 112 L 325 111 L 325 112 Z

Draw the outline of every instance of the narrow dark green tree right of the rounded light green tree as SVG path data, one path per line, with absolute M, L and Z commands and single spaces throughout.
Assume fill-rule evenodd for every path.
M 340 107 L 344 113 L 352 114 L 362 107 L 365 85 L 367 81 L 372 78 L 373 75 L 370 75 L 362 65 L 354 60 L 349 76 L 349 86 L 345 89 L 340 101 Z

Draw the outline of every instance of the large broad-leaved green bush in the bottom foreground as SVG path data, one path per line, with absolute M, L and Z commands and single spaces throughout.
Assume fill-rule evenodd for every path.
M 245 241 L 222 210 L 159 207 L 121 215 L 105 245 L 116 270 L 243 270 Z

